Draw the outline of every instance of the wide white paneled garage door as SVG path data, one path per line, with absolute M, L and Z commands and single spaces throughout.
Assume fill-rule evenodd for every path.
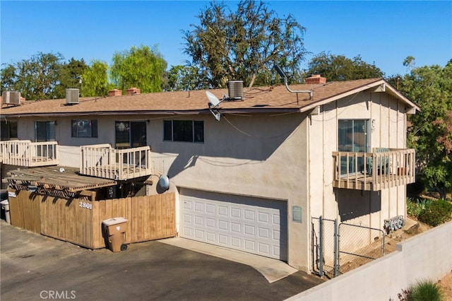
M 287 203 L 184 189 L 180 235 L 287 260 Z

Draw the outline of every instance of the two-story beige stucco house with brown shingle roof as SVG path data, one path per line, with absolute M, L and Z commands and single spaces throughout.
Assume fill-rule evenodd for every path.
M 406 216 L 406 184 L 415 181 L 407 114 L 419 107 L 381 78 L 129 90 L 3 105 L 4 182 L 20 182 L 8 175 L 18 167 L 58 165 L 114 181 L 105 185 L 118 197 L 130 193 L 126 184 L 174 193 L 180 237 L 304 271 L 313 264 L 311 218 L 383 229 L 385 219 Z M 33 158 L 18 160 L 20 148 L 34 148 Z M 161 175 L 168 191 L 159 189 Z

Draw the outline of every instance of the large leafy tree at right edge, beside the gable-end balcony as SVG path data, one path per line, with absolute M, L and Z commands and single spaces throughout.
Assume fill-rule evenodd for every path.
M 410 64 L 414 66 L 414 58 Z M 444 68 L 413 68 L 401 78 L 400 92 L 421 108 L 410 116 L 408 146 L 416 149 L 417 165 L 427 185 L 444 199 L 452 189 L 452 60 Z

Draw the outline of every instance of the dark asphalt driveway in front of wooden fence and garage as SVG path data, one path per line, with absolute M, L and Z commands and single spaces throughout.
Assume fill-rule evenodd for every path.
M 159 241 L 90 250 L 0 221 L 1 300 L 284 300 L 323 281 L 269 283 L 256 269 Z

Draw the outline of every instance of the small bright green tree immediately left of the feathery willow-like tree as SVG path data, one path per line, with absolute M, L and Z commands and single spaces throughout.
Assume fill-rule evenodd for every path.
M 82 75 L 82 96 L 105 96 L 109 90 L 108 65 L 104 61 L 93 60 Z

